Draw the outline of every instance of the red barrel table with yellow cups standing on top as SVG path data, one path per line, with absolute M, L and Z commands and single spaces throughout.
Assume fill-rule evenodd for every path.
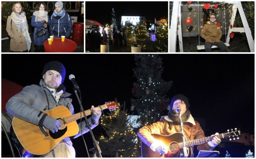
M 76 52 L 77 44 L 70 40 L 65 39 L 64 42 L 61 38 L 54 38 L 51 45 L 49 45 L 48 40 L 43 43 L 44 52 Z

